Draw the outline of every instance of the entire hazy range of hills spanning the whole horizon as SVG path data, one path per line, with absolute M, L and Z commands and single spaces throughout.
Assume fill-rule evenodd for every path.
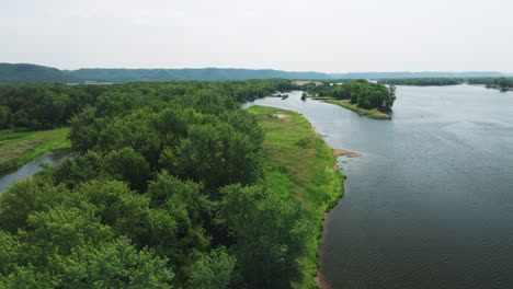
M 500 72 L 292 72 L 274 69 L 235 68 L 185 68 L 185 69 L 110 69 L 82 68 L 59 70 L 57 68 L 27 65 L 0 63 L 0 83 L 31 82 L 129 82 L 129 81 L 172 81 L 172 80 L 248 80 L 248 79 L 404 79 L 404 78 L 493 78 L 504 77 Z

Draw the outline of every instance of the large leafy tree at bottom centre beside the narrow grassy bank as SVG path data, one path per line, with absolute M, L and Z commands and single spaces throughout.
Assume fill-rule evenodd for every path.
M 231 246 L 250 288 L 290 288 L 301 278 L 297 258 L 311 232 L 297 203 L 285 201 L 262 187 L 223 188 L 218 222 L 236 238 Z

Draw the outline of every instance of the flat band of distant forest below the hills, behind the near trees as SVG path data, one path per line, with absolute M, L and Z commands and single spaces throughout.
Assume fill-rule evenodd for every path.
M 95 116 L 113 117 L 132 108 L 158 106 L 171 101 L 198 106 L 203 112 L 238 107 L 237 103 L 267 95 L 273 89 L 288 89 L 283 80 L 227 82 L 145 82 L 113 85 L 3 84 L 0 85 L 0 129 L 68 126 L 86 107 Z M 178 99 L 176 95 L 182 97 Z

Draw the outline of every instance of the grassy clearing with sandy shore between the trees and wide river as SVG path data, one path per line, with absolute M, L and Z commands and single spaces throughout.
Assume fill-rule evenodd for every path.
M 316 223 L 308 255 L 301 259 L 305 280 L 296 288 L 318 288 L 315 279 L 318 239 L 324 212 L 343 195 L 343 174 L 335 170 L 333 151 L 299 114 L 266 106 L 251 106 L 248 111 L 256 116 L 265 130 L 263 147 L 271 189 L 283 197 L 299 199 Z

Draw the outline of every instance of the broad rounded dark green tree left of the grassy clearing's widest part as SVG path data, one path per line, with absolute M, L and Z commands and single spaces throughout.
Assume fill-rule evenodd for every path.
M 232 126 L 215 122 L 192 125 L 186 139 L 161 160 L 164 167 L 208 187 L 251 184 L 261 176 L 259 143 Z

